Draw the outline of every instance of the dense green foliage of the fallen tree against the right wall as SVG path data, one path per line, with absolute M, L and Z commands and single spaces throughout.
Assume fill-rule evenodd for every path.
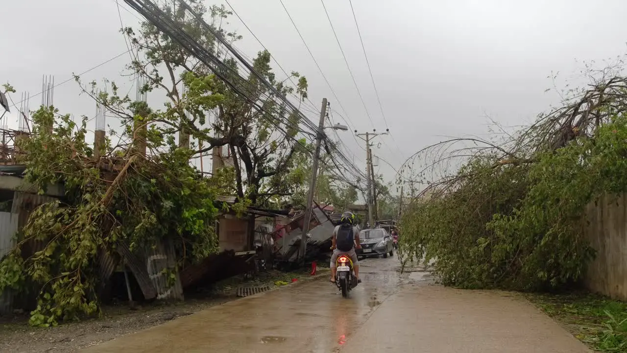
M 548 290 L 581 278 L 594 252 L 587 205 L 627 190 L 627 118 L 529 161 L 475 156 L 455 183 L 421 199 L 401 220 L 401 252 L 435 260 L 446 285 Z

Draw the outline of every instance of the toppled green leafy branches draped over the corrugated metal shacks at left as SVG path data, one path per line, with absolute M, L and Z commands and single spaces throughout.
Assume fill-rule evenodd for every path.
M 109 146 L 96 160 L 85 142 L 87 118 L 76 126 L 61 116 L 52 132 L 55 114 L 53 107 L 35 112 L 34 135 L 19 147 L 25 152 L 26 180 L 41 193 L 50 183 L 63 183 L 66 197 L 34 209 L 18 245 L 0 262 L 0 291 L 38 288 L 30 323 L 45 327 L 99 312 L 99 251 L 117 257 L 120 244 L 143 251 L 167 243 L 184 266 L 218 249 L 213 227 L 218 189 L 189 165 L 189 149 L 167 145 L 167 138 L 152 139 L 158 144 L 149 142 L 149 148 L 164 152 L 145 158 L 132 145 Z M 152 131 L 167 136 L 166 129 Z M 31 241 L 45 246 L 24 253 Z

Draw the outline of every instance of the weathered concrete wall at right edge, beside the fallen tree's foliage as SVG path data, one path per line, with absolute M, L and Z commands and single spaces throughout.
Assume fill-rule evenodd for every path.
M 596 293 L 627 300 L 627 194 L 602 197 L 587 207 L 584 234 L 597 254 L 584 277 Z

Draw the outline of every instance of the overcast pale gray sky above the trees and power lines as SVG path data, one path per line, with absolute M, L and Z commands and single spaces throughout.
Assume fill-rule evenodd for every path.
M 625 53 L 624 0 L 353 0 L 372 74 L 387 119 L 384 122 L 364 60 L 348 0 L 325 0 L 350 68 L 366 100 L 372 122 L 359 100 L 320 0 L 283 0 L 320 67 L 360 132 L 384 131 L 374 153 L 398 168 L 415 151 L 445 139 L 487 133 L 490 116 L 505 126 L 528 123 L 557 102 L 547 79 L 551 72 L 572 77 L 582 62 L 616 58 Z M 309 97 L 323 97 L 332 109 L 344 110 L 329 90 L 279 0 L 229 0 L 248 26 L 286 70 L 310 83 Z M 223 1 L 206 1 L 222 4 Z M 122 22 L 138 23 L 124 1 Z M 127 50 L 119 33 L 115 0 L 3 0 L 0 82 L 19 92 L 41 90 L 43 74 L 60 83 Z M 244 39 L 236 46 L 253 56 L 261 46 L 233 16 L 229 29 Z M 116 80 L 129 55 L 83 76 L 83 80 Z M 281 77 L 283 74 L 277 72 Z M 574 76 L 576 77 L 576 75 Z M 80 96 L 75 82 L 55 89 L 55 106 L 63 113 L 93 116 L 95 104 Z M 31 109 L 41 97 L 31 98 Z M 315 119 L 315 117 L 314 117 Z M 339 116 L 335 116 L 341 122 Z M 112 121 L 107 121 L 113 124 Z M 17 116 L 9 116 L 17 126 Z M 93 129 L 93 121 L 90 128 Z M 364 166 L 365 153 L 350 133 L 339 133 Z M 359 140 L 361 141 L 361 140 Z M 357 160 L 358 159 L 358 160 Z M 381 163 L 393 180 L 394 171 Z

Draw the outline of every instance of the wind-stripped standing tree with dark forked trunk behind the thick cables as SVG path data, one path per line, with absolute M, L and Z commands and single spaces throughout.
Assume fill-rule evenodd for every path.
M 166 91 L 171 100 L 167 104 L 177 107 L 178 120 L 171 120 L 174 130 L 191 134 L 199 141 L 194 156 L 228 146 L 233 158 L 234 193 L 238 198 L 262 206 L 273 196 L 291 195 L 292 190 L 282 176 L 292 166 L 295 153 L 305 153 L 305 150 L 303 141 L 294 142 L 300 131 L 300 116 L 286 105 L 286 97 L 295 94 L 300 106 L 307 98 L 307 80 L 297 72 L 290 73 L 285 80 L 277 80 L 270 67 L 270 53 L 265 50 L 248 63 L 252 70 L 229 57 L 229 50 L 221 45 L 221 40 L 232 43 L 241 36 L 224 30 L 231 15 L 224 6 L 206 8 L 202 2 L 188 5 L 175 1 L 174 4 L 174 8 L 155 9 L 159 14 L 166 14 L 167 24 L 147 17 L 153 22 L 142 23 L 139 30 L 122 30 L 137 47 L 132 70 L 149 79 L 147 92 Z M 209 23 L 203 21 L 205 15 L 211 18 Z M 164 29 L 171 28 L 176 28 L 177 35 L 184 36 L 185 40 L 164 33 Z M 195 48 L 202 48 L 202 51 Z M 182 106 L 180 102 L 186 100 L 186 95 L 206 92 L 196 92 L 203 87 L 194 84 L 186 85 L 184 93 L 177 89 L 182 81 L 177 73 L 181 71 L 199 79 L 214 72 L 219 81 L 211 93 L 223 99 L 214 109 L 204 109 L 201 105 Z M 245 77 L 242 72 L 246 71 L 248 76 Z M 196 128 L 196 124 L 206 124 L 208 129 Z

